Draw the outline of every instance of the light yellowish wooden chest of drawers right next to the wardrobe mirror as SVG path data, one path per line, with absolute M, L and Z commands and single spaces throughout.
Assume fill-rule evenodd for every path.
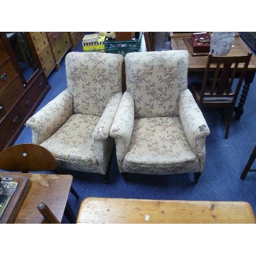
M 46 32 L 25 32 L 29 38 L 30 44 L 34 47 L 40 66 L 46 77 L 55 68 L 55 59 L 48 41 Z

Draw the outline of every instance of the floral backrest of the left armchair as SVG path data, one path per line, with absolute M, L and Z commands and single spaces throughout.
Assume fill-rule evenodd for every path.
M 67 83 L 73 94 L 74 114 L 102 115 L 111 96 L 122 92 L 122 62 L 120 54 L 67 54 Z

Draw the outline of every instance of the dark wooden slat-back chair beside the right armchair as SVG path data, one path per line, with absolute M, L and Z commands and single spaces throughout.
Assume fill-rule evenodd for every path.
M 246 56 L 212 56 L 210 53 L 202 84 L 192 83 L 191 90 L 200 108 L 220 108 L 225 120 L 225 139 L 228 138 L 234 104 L 241 89 L 251 53 Z M 208 76 L 213 72 L 213 79 Z M 211 76 L 212 77 L 212 74 Z M 235 79 L 239 77 L 239 79 Z M 226 119 L 223 109 L 229 109 Z

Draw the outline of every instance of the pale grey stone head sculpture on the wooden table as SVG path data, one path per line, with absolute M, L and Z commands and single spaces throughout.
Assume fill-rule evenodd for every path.
M 214 32 L 210 36 L 210 53 L 213 56 L 225 56 L 229 53 L 233 41 L 234 32 Z

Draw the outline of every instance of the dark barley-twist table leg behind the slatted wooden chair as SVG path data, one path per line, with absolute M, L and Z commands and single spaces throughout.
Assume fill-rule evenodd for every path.
M 239 104 L 234 108 L 234 112 L 236 112 L 236 116 L 234 116 L 234 119 L 236 120 L 240 120 L 240 117 L 243 115 L 243 112 L 244 112 L 243 106 L 250 88 L 250 83 L 253 81 L 254 75 L 255 75 L 255 71 L 247 71 L 247 74 L 244 78 L 245 83 L 244 83 L 243 91 L 239 100 Z

